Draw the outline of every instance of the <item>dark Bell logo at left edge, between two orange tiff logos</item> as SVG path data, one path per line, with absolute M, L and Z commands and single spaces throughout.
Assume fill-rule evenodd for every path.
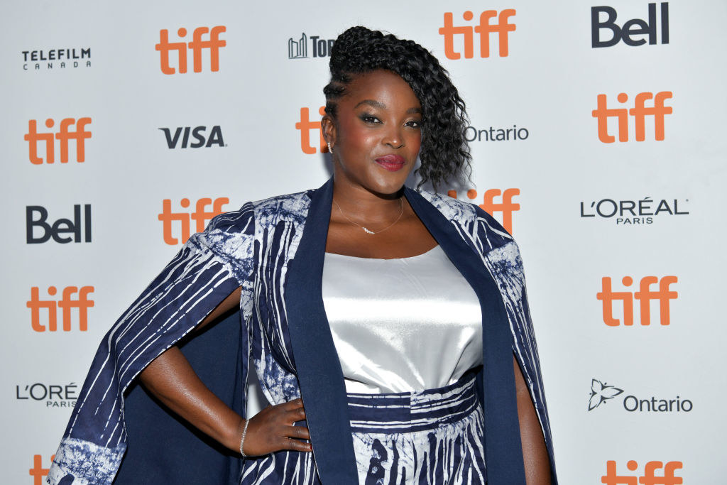
M 37 216 L 37 218 L 36 218 Z M 71 241 L 91 242 L 91 205 L 84 204 L 84 215 L 81 217 L 81 204 L 73 206 L 73 220 L 59 219 L 50 225 L 48 220 L 48 209 L 43 206 L 26 206 L 25 207 L 25 242 L 28 244 L 42 244 L 53 238 L 60 244 L 66 244 Z M 39 236 L 35 235 L 35 228 L 42 231 Z M 62 234 L 73 234 L 63 237 Z M 81 238 L 83 240 L 81 241 Z

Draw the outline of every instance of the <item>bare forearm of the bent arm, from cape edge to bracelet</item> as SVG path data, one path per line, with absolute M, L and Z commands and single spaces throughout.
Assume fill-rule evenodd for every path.
M 140 374 L 144 387 L 173 412 L 229 449 L 239 449 L 242 418 L 209 390 L 176 346 Z

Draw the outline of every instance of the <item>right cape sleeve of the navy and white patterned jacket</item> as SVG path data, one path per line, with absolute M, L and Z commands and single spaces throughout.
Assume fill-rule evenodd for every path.
M 553 437 L 550 433 L 550 420 L 545 404 L 545 390 L 528 306 L 520 250 L 513 236 L 510 236 L 491 215 L 480 207 L 475 210 L 477 213 L 475 241 L 479 245 L 478 250 L 483 254 L 485 265 L 499 285 L 502 300 L 505 302 L 510 331 L 513 333 L 513 353 L 518 359 L 523 378 L 529 387 L 550 457 L 553 484 L 557 484 Z

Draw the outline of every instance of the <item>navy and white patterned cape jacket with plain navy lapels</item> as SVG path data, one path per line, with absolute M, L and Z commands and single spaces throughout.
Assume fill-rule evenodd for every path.
M 209 356 L 220 348 L 220 338 L 233 342 L 233 377 L 225 378 L 236 382 L 222 384 L 221 397 L 244 415 L 252 362 L 270 403 L 303 398 L 313 457 L 288 452 L 284 459 L 300 460 L 300 466 L 308 467 L 313 460 L 324 484 L 357 483 L 345 385 L 321 297 L 332 188 L 329 180 L 317 190 L 244 204 L 236 212 L 215 217 L 204 233 L 190 237 L 103 338 L 47 483 L 114 481 L 134 424 L 131 409 L 126 409 L 134 378 L 238 287 L 242 289 L 238 332 L 231 339 L 207 338 L 209 348 L 203 350 Z M 542 425 L 555 483 L 553 441 L 518 247 L 473 204 L 409 188 L 405 196 L 473 286 L 483 308 L 483 370 L 478 384 L 485 411 L 488 483 L 524 484 L 513 353 Z M 194 340 L 198 338 L 204 340 Z M 174 446 L 184 450 L 185 439 L 178 438 Z M 139 438 L 130 443 L 129 456 L 134 446 L 150 446 L 148 441 Z M 204 463 L 202 454 L 174 454 L 177 460 L 203 462 L 209 473 L 204 483 L 239 481 L 240 460 L 234 457 L 224 457 L 227 461 L 219 466 L 217 459 Z M 209 468 L 213 462 L 219 473 Z

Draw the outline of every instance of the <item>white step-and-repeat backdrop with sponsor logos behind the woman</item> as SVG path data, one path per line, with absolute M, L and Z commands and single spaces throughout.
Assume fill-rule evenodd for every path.
M 5 4 L 1 481 L 41 484 L 100 337 L 190 233 L 326 180 L 358 24 L 467 102 L 450 195 L 521 246 L 562 483 L 726 483 L 716 0 Z

